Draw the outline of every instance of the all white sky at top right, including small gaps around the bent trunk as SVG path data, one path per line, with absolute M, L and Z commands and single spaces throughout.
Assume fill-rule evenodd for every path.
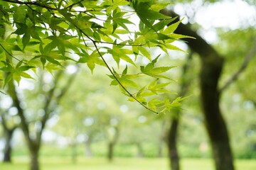
M 242 0 L 224 0 L 215 4 L 201 7 L 202 0 L 195 0 L 190 4 L 176 4 L 174 11 L 181 16 L 193 14 L 194 22 L 198 23 L 203 30 L 201 34 L 208 42 L 217 40 L 214 28 L 237 29 L 247 26 L 256 27 L 256 6 L 250 6 Z M 188 22 L 185 18 L 184 22 Z

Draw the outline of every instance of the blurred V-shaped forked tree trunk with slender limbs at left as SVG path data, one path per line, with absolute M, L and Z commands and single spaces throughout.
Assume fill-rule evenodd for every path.
M 60 79 L 60 76 L 63 72 L 58 72 L 58 74 L 55 76 L 55 84 L 57 84 L 58 80 Z M 31 170 L 39 170 L 39 163 L 38 163 L 38 154 L 39 150 L 41 148 L 41 138 L 43 134 L 43 130 L 46 127 L 46 122 L 50 118 L 50 113 L 54 111 L 55 106 L 51 106 L 53 100 L 55 100 L 56 103 L 60 101 L 60 99 L 65 95 L 66 91 L 68 91 L 68 88 L 70 87 L 70 82 L 73 82 L 73 79 L 75 76 L 71 76 L 68 80 L 67 84 L 61 89 L 58 96 L 54 96 L 54 92 L 56 90 L 56 86 L 53 86 L 50 91 L 48 91 L 48 95 L 46 96 L 46 101 L 44 103 L 43 110 L 45 111 L 45 114 L 43 115 L 43 118 L 41 120 L 38 120 L 37 123 L 40 123 L 41 127 L 36 130 L 35 133 L 31 133 L 31 130 L 29 129 L 30 123 L 26 119 L 25 109 L 21 108 L 21 99 L 18 98 L 18 93 L 16 92 L 16 86 L 14 85 L 14 81 L 9 81 L 8 84 L 8 94 L 12 98 L 13 105 L 18 110 L 18 116 L 21 119 L 21 130 L 23 131 L 23 135 L 25 137 L 26 143 L 28 145 L 28 149 L 30 152 L 31 157 Z

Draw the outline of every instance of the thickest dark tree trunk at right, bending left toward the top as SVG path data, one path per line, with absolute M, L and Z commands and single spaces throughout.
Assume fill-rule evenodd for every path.
M 177 16 L 172 11 L 164 10 L 162 12 L 168 16 Z M 213 150 L 215 169 L 233 170 L 235 168 L 233 165 L 233 154 L 230 148 L 228 129 L 219 106 L 220 94 L 218 91 L 218 81 L 221 70 L 223 69 L 223 57 L 189 26 L 181 23 L 175 33 L 190 35 L 196 38 L 186 39 L 185 42 L 201 58 L 201 103 L 206 122 L 206 130 Z

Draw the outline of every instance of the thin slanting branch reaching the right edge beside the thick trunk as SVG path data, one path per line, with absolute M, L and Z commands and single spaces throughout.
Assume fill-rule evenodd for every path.
M 240 76 L 240 74 L 246 69 L 247 65 L 249 64 L 250 60 L 252 59 L 252 57 L 254 57 L 256 55 L 256 39 L 252 45 L 252 48 L 250 50 L 250 52 L 247 53 L 247 55 L 245 56 L 245 60 L 242 62 L 241 67 L 238 69 L 237 72 L 235 72 L 235 74 L 233 74 L 232 77 L 230 77 L 230 79 L 224 84 L 224 86 L 222 86 L 219 90 L 219 92 L 221 93 L 222 91 L 224 91 L 225 89 L 228 88 L 228 86 L 230 86 L 230 84 L 233 83 L 233 81 L 237 80 L 238 77 Z

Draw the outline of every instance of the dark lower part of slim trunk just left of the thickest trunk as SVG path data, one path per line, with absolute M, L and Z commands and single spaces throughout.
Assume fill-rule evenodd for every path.
M 169 148 L 169 160 L 171 162 L 171 170 L 179 170 L 179 157 L 177 149 L 177 133 L 178 133 L 178 118 L 171 120 L 171 128 L 168 134 L 168 148 Z

